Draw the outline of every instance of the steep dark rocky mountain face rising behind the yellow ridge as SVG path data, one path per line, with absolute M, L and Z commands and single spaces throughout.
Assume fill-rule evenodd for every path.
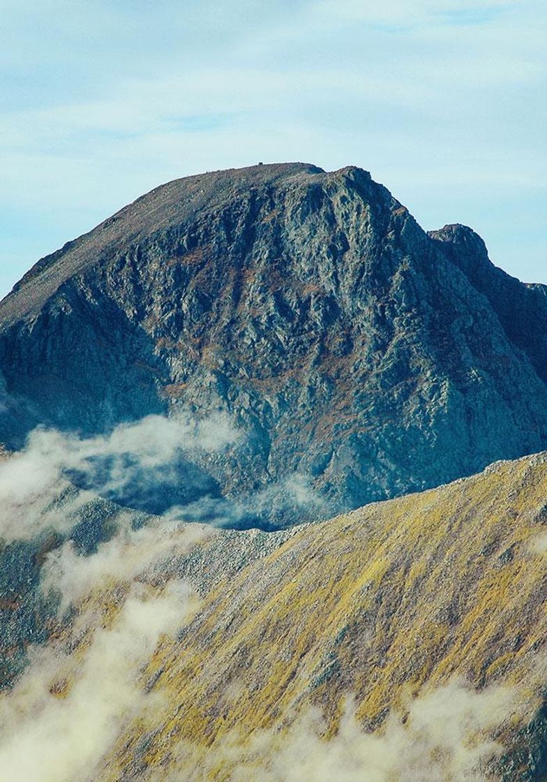
M 511 325 L 480 240 L 446 234 L 355 167 L 156 188 L 0 305 L 0 439 L 225 410 L 246 437 L 206 465 L 224 493 L 298 473 L 331 512 L 541 450 L 545 291 L 511 282 L 540 313 Z

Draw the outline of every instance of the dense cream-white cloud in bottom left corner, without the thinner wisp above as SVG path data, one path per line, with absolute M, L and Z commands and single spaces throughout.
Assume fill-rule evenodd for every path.
M 184 583 L 161 594 L 134 585 L 111 626 L 97 627 L 79 655 L 37 650 L 10 694 L 0 696 L 0 782 L 78 782 L 116 741 L 123 725 L 152 708 L 138 682 L 159 637 L 195 612 Z

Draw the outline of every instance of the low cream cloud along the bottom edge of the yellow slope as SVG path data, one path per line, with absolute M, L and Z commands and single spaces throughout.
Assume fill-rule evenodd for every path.
M 230 782 L 485 782 L 484 763 L 503 750 L 492 733 L 526 716 L 517 691 L 474 691 L 460 680 L 426 688 L 404 714 L 391 712 L 372 734 L 354 712 L 350 702 L 328 740 L 320 712 L 310 710 L 288 730 L 257 730 L 247 738 L 233 730 L 201 753 L 183 742 L 170 774 L 162 769 L 150 779 L 198 782 L 208 769 L 224 767 L 231 769 Z

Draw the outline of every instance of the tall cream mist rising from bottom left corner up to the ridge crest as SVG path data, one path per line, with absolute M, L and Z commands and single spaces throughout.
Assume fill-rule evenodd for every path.
M 163 633 L 174 636 L 198 603 L 187 582 L 147 583 L 170 547 L 191 546 L 196 527 L 127 530 L 88 558 L 70 545 L 52 554 L 45 589 L 77 605 L 74 625 L 34 647 L 13 691 L 0 696 L 0 780 L 77 782 L 127 721 L 154 706 L 139 679 Z M 91 599 L 98 590 L 100 597 Z

